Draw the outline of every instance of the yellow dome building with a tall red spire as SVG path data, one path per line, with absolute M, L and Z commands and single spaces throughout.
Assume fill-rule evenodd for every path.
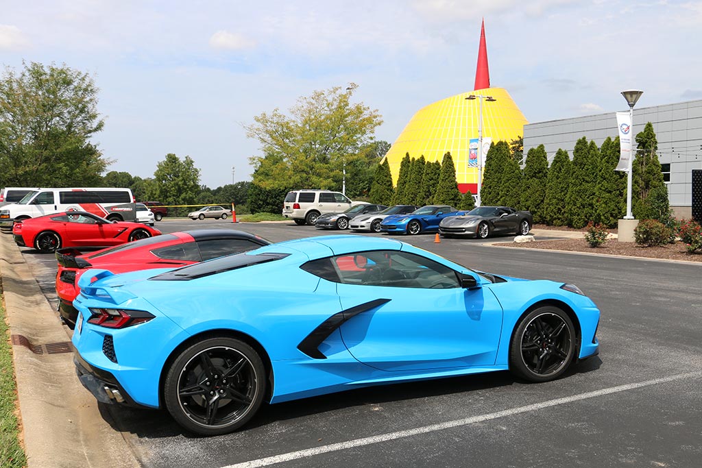
M 481 106 L 484 164 L 484 154 L 490 142 L 510 142 L 523 135 L 524 124 L 529 123 L 507 90 L 490 88 L 484 24 L 480 33 L 475 91 L 434 102 L 414 114 L 385 155 L 393 182 L 397 184 L 399 166 L 405 154 L 409 153 L 411 158 L 423 155 L 426 161 L 441 162 L 444 154 L 451 152 L 458 189 L 462 193 L 468 189 L 473 194 L 477 193 L 477 139 Z

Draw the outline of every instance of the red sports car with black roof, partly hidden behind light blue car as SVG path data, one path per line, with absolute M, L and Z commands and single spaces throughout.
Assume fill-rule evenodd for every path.
M 58 310 L 65 323 L 73 328 L 77 317 L 73 300 L 79 293 L 78 279 L 88 268 L 125 273 L 140 269 L 181 267 L 230 253 L 253 250 L 269 243 L 248 232 L 197 229 L 163 234 L 82 255 L 78 249 L 62 248 L 56 252 Z

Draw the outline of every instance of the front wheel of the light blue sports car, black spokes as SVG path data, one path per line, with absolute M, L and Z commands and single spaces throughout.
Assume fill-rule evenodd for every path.
M 531 382 L 553 380 L 573 361 L 576 335 L 558 307 L 535 309 L 517 325 L 510 343 L 510 370 Z

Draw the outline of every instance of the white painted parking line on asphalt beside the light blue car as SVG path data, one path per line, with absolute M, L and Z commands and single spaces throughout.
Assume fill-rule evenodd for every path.
M 475 422 L 482 422 L 487 420 L 494 420 L 498 417 L 505 417 L 511 415 L 517 415 L 519 413 L 528 413 L 529 411 L 541 410 L 543 408 L 550 408 L 551 406 L 564 405 L 566 403 L 572 403 L 574 401 L 581 401 L 589 398 L 595 398 L 595 396 L 609 395 L 618 392 L 625 392 L 627 390 L 638 389 L 641 387 L 650 387 L 651 385 L 663 384 L 666 382 L 674 382 L 675 380 L 689 379 L 691 377 L 702 377 L 702 371 L 689 372 L 684 374 L 671 375 L 670 377 L 661 377 L 659 379 L 646 380 L 645 382 L 637 382 L 627 385 L 618 385 L 616 387 L 609 387 L 606 389 L 595 390 L 594 392 L 585 392 L 573 396 L 564 396 L 563 398 L 557 398 L 553 400 L 543 401 L 542 403 L 534 403 L 526 406 L 517 406 L 517 408 L 511 408 L 508 410 L 497 411 L 496 413 L 488 413 L 486 415 L 466 417 L 461 420 L 453 420 L 447 422 L 440 422 L 439 424 L 430 424 L 429 426 L 417 427 L 415 429 L 406 429 L 404 431 L 389 432 L 388 434 L 380 434 L 378 436 L 364 437 L 363 439 L 355 439 L 352 441 L 331 443 L 328 446 L 307 448 L 305 450 L 298 450 L 296 452 L 283 453 L 281 455 L 274 455 L 272 457 L 259 458 L 258 460 L 251 460 L 249 462 L 241 462 L 236 464 L 230 464 L 223 468 L 256 468 L 256 467 L 267 467 L 276 463 L 289 462 L 291 460 L 299 460 L 300 458 L 312 457 L 314 455 L 321 455 L 322 453 L 335 452 L 337 450 L 345 450 L 347 448 L 354 448 L 359 446 L 368 446 L 371 443 L 392 441 L 395 439 L 404 439 L 405 437 L 416 436 L 418 434 L 426 434 L 428 432 L 442 431 L 444 429 L 451 429 L 453 427 L 466 426 L 468 424 L 474 424 Z

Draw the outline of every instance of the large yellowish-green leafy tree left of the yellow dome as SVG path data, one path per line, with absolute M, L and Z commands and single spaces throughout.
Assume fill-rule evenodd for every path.
M 344 165 L 353 168 L 357 159 L 366 159 L 366 147 L 383 123 L 377 110 L 351 102 L 356 88 L 314 91 L 298 99 L 290 116 L 274 109 L 254 117 L 245 128 L 260 142 L 263 156 L 251 158 L 253 182 L 264 188 L 341 189 Z M 372 178 L 364 180 L 367 192 Z

